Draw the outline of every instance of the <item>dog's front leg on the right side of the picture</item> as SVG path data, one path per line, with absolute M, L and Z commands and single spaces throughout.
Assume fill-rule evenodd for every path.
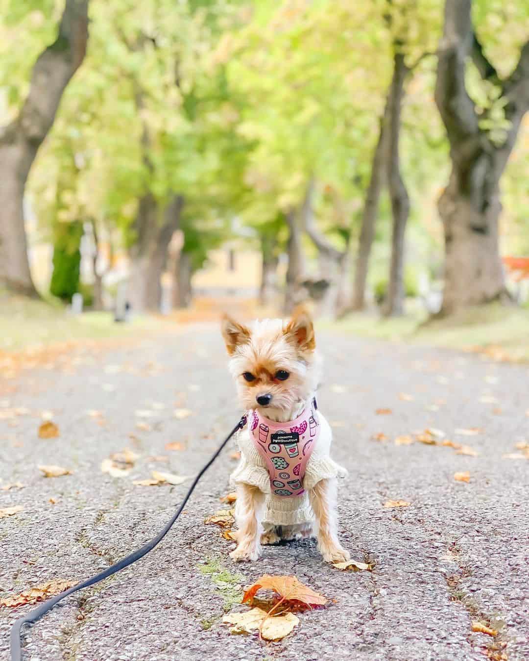
M 338 541 L 336 520 L 336 479 L 321 480 L 308 496 L 316 517 L 318 550 L 326 563 L 349 560 L 349 552 Z

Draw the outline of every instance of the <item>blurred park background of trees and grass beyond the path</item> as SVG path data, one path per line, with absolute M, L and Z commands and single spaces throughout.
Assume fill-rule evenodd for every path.
M 3 350 L 310 301 L 529 358 L 526 0 L 0 14 Z

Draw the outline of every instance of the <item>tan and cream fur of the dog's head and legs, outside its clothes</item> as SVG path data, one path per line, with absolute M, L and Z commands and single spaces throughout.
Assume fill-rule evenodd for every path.
M 281 319 L 256 321 L 250 327 L 226 316 L 222 323 L 223 337 L 230 355 L 229 368 L 235 379 L 240 405 L 244 410 L 257 408 L 266 418 L 286 422 L 296 418 L 310 405 L 316 391 L 320 358 L 316 352 L 314 327 L 310 315 L 297 309 L 288 323 Z M 285 370 L 289 377 L 275 377 Z M 247 381 L 244 373 L 254 380 Z M 271 395 L 266 407 L 257 397 Z M 328 422 L 318 411 L 320 437 L 326 435 L 330 443 Z M 247 428 L 241 432 L 248 434 Z M 310 463 L 310 460 L 309 460 Z M 336 478 L 322 479 L 308 492 L 314 512 L 313 522 L 294 525 L 262 524 L 265 494 L 257 486 L 238 483 L 236 522 L 237 547 L 230 556 L 236 561 L 256 560 L 262 544 L 277 543 L 281 539 L 301 539 L 316 535 L 318 549 L 327 562 L 349 558 L 337 538 Z

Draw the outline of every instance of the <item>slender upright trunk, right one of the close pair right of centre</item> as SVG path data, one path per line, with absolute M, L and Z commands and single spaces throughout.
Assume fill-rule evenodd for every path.
M 394 56 L 393 79 L 388 98 L 388 188 L 393 216 L 392 247 L 388 295 L 384 305 L 384 315 L 396 317 L 404 314 L 404 235 L 409 215 L 409 198 L 406 185 L 400 173 L 400 115 L 404 96 L 404 81 L 407 67 L 404 54 L 396 52 Z

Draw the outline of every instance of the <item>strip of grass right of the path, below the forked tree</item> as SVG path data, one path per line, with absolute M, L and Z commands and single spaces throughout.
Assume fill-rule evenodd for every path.
M 332 325 L 339 332 L 460 350 L 487 350 L 497 357 L 529 361 L 529 310 L 485 305 L 466 309 L 446 319 L 427 319 L 419 307 L 408 309 L 406 317 L 383 319 L 355 313 Z

